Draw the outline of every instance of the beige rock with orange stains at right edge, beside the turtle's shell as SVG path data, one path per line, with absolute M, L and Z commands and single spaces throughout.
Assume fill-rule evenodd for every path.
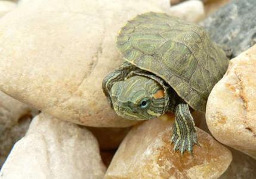
M 256 159 L 256 45 L 232 59 L 212 89 L 206 122 L 221 143 Z

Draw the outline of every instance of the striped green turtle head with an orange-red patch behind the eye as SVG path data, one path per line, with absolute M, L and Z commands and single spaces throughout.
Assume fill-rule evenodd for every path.
M 155 80 L 144 76 L 115 82 L 110 98 L 115 112 L 125 119 L 153 119 L 166 111 L 164 89 Z

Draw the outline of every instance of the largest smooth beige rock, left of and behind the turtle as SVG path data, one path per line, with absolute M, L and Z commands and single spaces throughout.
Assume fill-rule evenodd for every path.
M 166 3 L 165 3 L 166 2 Z M 125 21 L 168 0 L 37 0 L 0 21 L 0 90 L 77 124 L 124 127 L 101 90 L 121 64 L 115 36 Z

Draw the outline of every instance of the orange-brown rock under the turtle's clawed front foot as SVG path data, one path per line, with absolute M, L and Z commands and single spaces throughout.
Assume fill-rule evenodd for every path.
M 134 126 L 122 141 L 105 178 L 218 178 L 232 155 L 197 128 L 201 147 L 194 156 L 174 152 L 170 144 L 173 121 L 152 120 Z

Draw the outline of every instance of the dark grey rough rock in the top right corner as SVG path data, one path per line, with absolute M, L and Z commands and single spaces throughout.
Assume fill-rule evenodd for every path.
M 232 48 L 236 57 L 256 44 L 255 17 L 255 0 L 233 0 L 206 18 L 203 25 L 215 42 Z

